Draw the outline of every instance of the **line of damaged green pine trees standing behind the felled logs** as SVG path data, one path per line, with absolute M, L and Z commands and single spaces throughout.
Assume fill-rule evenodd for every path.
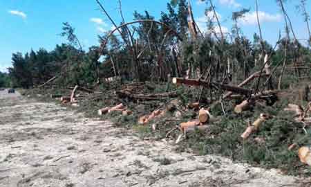
M 104 10 L 104 6 L 99 1 L 97 3 Z M 119 3 L 123 17 L 121 1 Z M 305 3 L 300 1 L 299 10 L 308 23 Z M 77 84 L 95 87 L 105 84 L 106 78 L 111 77 L 121 82 L 167 81 L 173 76 L 201 78 L 207 72 L 216 81 L 237 83 L 260 69 L 267 54 L 271 66 L 279 69 L 294 66 L 298 62 L 310 66 L 310 46 L 296 39 L 283 1 L 277 1 L 276 5 L 285 15 L 286 35 L 280 34 L 276 46 L 262 38 L 261 30 L 254 31 L 252 39 L 243 35 L 238 19 L 249 9 L 232 12 L 232 31 L 223 33 L 213 1 L 206 1 L 206 4 L 206 15 L 212 12 L 213 16 L 207 17 L 208 30 L 205 32 L 195 22 L 191 25 L 189 2 L 172 0 L 167 3 L 167 10 L 160 13 L 159 21 L 148 11 L 133 12 L 133 24 L 122 21 L 117 25 L 110 18 L 115 29 L 99 35 L 101 45 L 92 46 L 86 51 L 75 35 L 75 28 L 64 23 L 61 35 L 68 39 L 68 43 L 55 46 L 53 51 L 40 48 L 24 55 L 12 54 L 12 68 L 8 69 L 10 84 L 12 87 L 31 88 L 57 76 L 55 84 L 59 86 Z M 109 16 L 108 13 L 106 15 Z M 218 33 L 216 28 L 220 30 Z M 293 72 L 297 77 L 301 73 L 299 69 Z M 2 77 L 6 75 L 0 74 L 0 85 Z M 8 78 L 4 80 L 8 82 Z

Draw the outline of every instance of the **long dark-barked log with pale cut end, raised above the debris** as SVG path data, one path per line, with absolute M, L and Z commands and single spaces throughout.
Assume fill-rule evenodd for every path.
M 232 91 L 234 93 L 250 95 L 252 94 L 252 89 L 245 89 L 241 87 L 234 87 L 229 84 L 220 84 L 218 82 L 208 82 L 204 80 L 195 80 L 195 79 L 187 79 L 187 78 L 173 78 L 173 84 L 187 84 L 191 86 L 202 86 L 207 88 L 215 88 L 215 89 L 223 89 L 226 91 Z

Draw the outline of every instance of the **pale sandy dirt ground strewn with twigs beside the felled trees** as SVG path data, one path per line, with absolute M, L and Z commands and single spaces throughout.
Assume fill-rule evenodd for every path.
M 308 186 L 214 155 L 174 152 L 109 121 L 0 91 L 0 186 Z M 309 184 L 310 185 L 310 184 Z

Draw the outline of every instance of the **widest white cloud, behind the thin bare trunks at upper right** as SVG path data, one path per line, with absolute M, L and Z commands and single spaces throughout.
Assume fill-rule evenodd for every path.
M 280 14 L 270 15 L 267 12 L 258 11 L 259 21 L 264 22 L 279 22 L 282 19 Z M 239 20 L 240 24 L 243 25 L 254 25 L 257 24 L 257 15 L 256 12 L 247 12 L 244 17 L 241 17 Z

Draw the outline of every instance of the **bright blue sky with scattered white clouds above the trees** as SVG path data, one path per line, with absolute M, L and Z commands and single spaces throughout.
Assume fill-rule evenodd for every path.
M 148 10 L 151 15 L 159 19 L 160 12 L 166 11 L 169 0 L 123 0 L 122 10 L 126 21 L 133 19 L 133 11 Z M 117 23 L 120 22 L 117 0 L 102 1 Z M 205 29 L 205 3 L 200 0 L 191 0 L 194 17 L 202 30 Z M 223 30 L 232 28 L 232 11 L 241 8 L 250 8 L 245 19 L 240 21 L 243 33 L 247 37 L 258 31 L 254 15 L 253 0 L 214 0 L 220 17 Z M 260 19 L 263 27 L 263 37 L 274 44 L 283 33 L 283 17 L 274 0 L 258 0 Z M 299 38 L 308 38 L 303 19 L 295 5 L 299 0 L 289 0 L 286 9 L 294 24 L 296 35 Z M 311 2 L 308 8 L 311 13 Z M 95 0 L 0 0 L 0 71 L 5 71 L 11 65 L 12 53 L 26 53 L 37 51 L 40 47 L 53 50 L 56 44 L 65 42 L 59 33 L 62 31 L 62 22 L 68 21 L 76 28 L 76 34 L 84 48 L 98 45 L 97 35 L 111 29 L 111 23 L 100 12 Z

